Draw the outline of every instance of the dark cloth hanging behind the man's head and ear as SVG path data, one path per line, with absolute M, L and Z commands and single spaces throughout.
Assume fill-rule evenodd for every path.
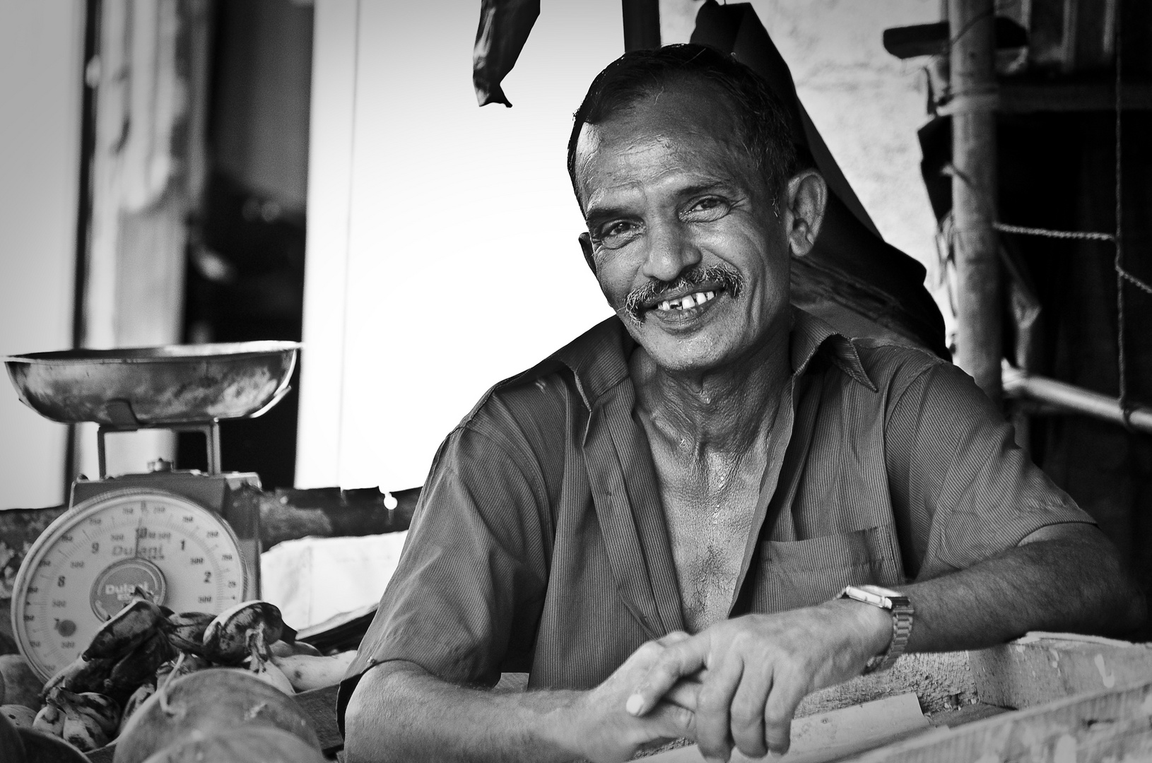
M 691 41 L 735 55 L 768 83 L 788 109 L 793 142 L 828 183 L 816 246 L 793 259 L 793 302 L 838 328 L 863 329 L 850 334 L 867 335 L 871 323 L 949 358 L 943 319 L 924 288 L 924 266 L 880 237 L 796 97 L 791 71 L 752 6 L 707 0 L 697 13 Z

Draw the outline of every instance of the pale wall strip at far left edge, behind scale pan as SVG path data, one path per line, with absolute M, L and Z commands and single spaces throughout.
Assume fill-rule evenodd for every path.
M 0 356 L 71 341 L 81 0 L 0 0 Z M 0 509 L 63 501 L 63 425 L 0 381 Z

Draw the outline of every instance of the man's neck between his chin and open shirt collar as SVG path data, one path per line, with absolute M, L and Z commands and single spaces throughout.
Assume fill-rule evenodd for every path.
M 746 357 L 704 373 L 660 368 L 637 346 L 630 371 L 642 414 L 684 456 L 740 457 L 772 425 L 791 375 L 788 337 L 785 322 Z

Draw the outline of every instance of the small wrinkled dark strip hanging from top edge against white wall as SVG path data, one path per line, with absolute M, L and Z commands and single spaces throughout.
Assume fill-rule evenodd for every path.
M 480 0 L 480 25 L 472 48 L 472 85 L 480 106 L 511 106 L 500 83 L 516 66 L 539 15 L 540 0 Z

